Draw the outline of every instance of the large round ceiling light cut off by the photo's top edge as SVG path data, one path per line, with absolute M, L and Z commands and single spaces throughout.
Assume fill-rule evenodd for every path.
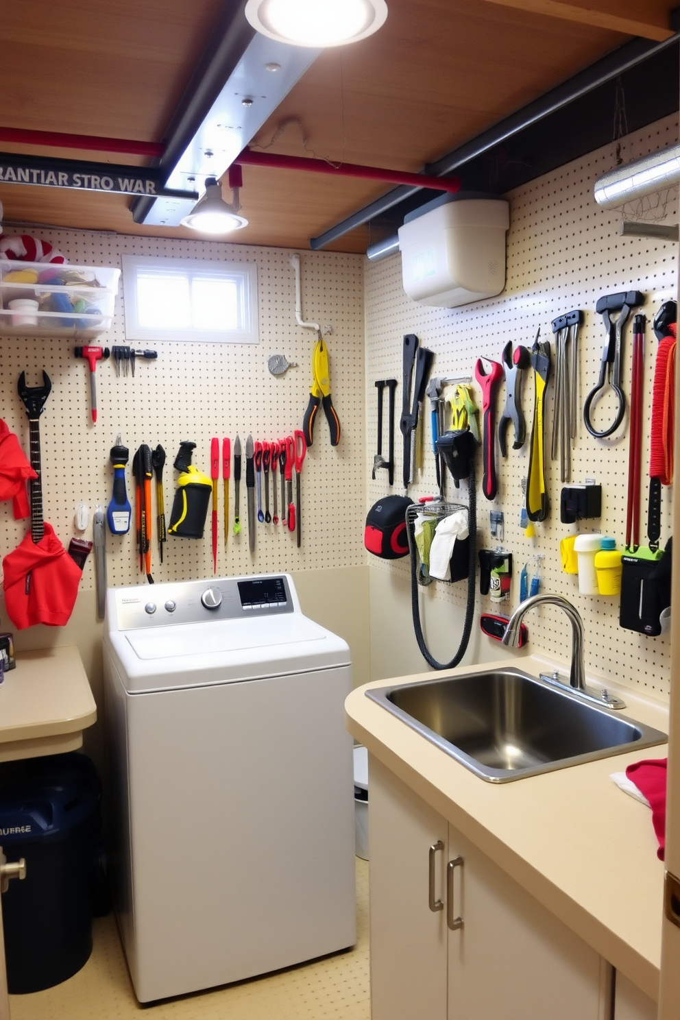
M 295 46 L 344 46 L 377 32 L 384 0 L 248 0 L 246 17 L 258 32 Z

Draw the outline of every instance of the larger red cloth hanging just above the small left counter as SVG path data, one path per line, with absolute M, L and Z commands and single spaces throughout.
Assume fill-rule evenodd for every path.
M 47 522 L 36 545 L 31 532 L 2 561 L 5 608 L 17 628 L 63 627 L 75 605 L 82 572 Z M 30 576 L 29 576 L 30 574 Z

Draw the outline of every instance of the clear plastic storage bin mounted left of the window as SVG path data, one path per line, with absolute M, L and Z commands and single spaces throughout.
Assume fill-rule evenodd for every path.
M 92 265 L 0 261 L 0 337 L 96 340 L 111 327 L 120 269 Z M 37 301 L 35 320 L 12 312 Z

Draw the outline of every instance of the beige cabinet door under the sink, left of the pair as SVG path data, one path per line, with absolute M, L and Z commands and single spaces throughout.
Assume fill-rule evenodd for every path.
M 430 891 L 443 908 L 448 825 L 372 756 L 368 778 L 371 1018 L 446 1020 L 446 911 Z

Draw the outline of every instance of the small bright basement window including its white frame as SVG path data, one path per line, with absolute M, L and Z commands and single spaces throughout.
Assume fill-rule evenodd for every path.
M 125 339 L 257 344 L 254 262 L 123 255 Z

